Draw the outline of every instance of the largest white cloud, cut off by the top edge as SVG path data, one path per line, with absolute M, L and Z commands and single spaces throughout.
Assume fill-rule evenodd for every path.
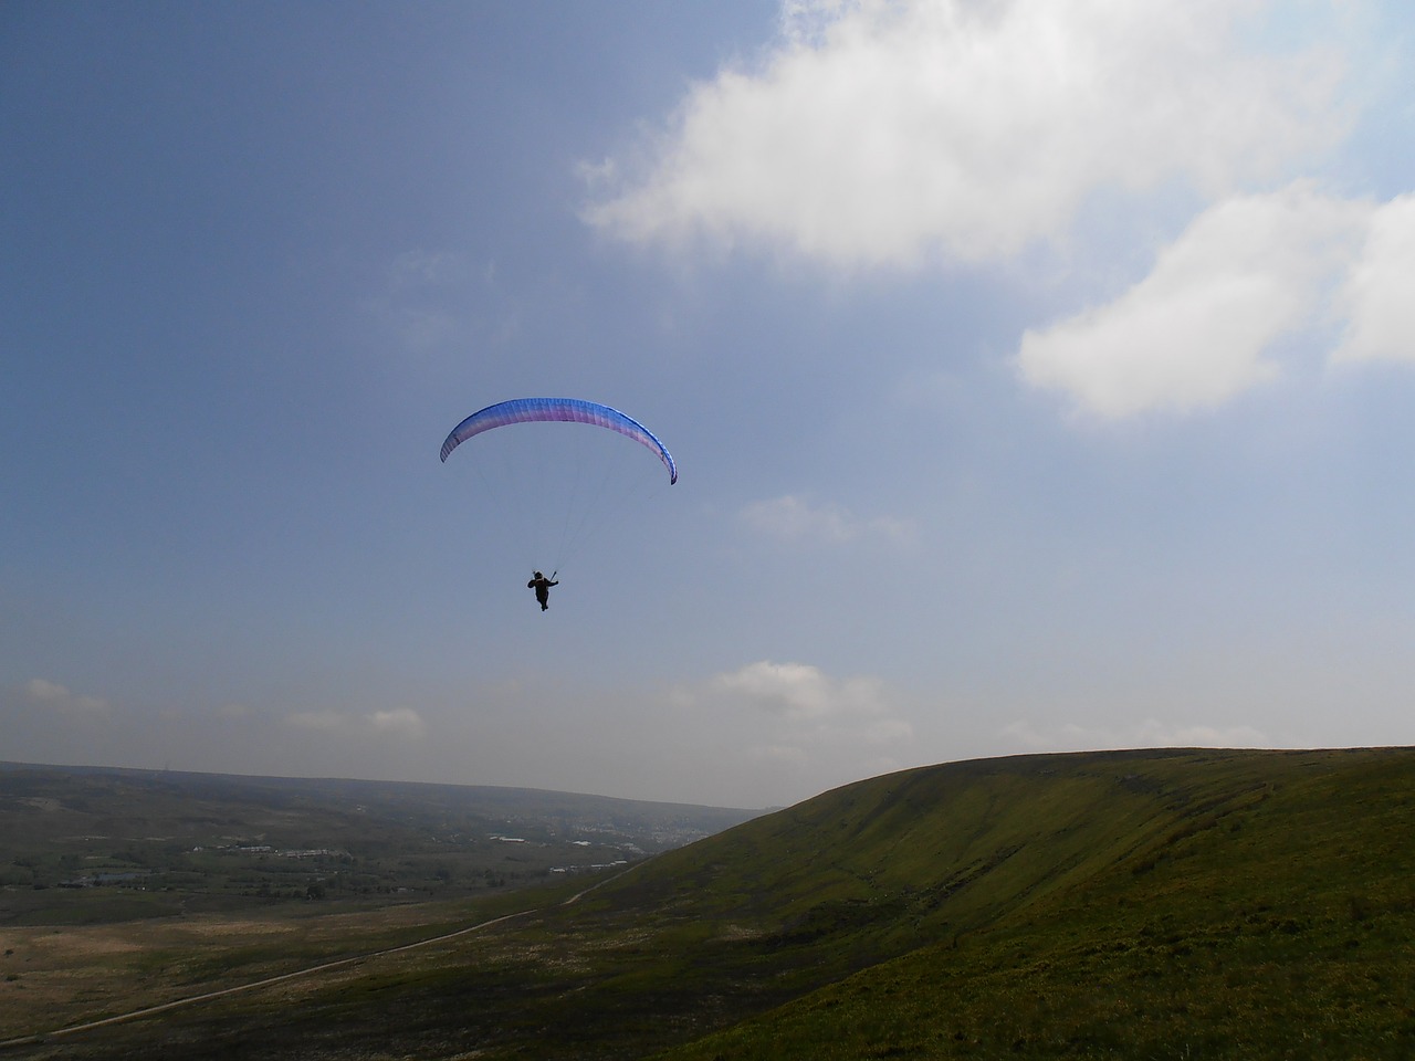
M 1098 188 L 1274 180 L 1340 133 L 1340 69 L 1319 45 L 1244 52 L 1244 17 L 1262 11 L 788 0 L 760 68 L 696 85 L 640 182 L 586 219 L 641 243 L 708 235 L 842 266 L 989 260 L 1058 236 Z

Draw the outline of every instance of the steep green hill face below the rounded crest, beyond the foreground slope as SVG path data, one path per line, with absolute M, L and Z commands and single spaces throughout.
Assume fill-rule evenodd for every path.
M 1029 755 L 893 774 L 657 859 L 610 886 L 630 907 L 774 925 L 788 939 L 874 922 L 890 949 L 1016 915 L 1176 832 L 1261 804 L 1279 758 L 1146 751 Z M 876 935 L 876 934 L 872 934 Z

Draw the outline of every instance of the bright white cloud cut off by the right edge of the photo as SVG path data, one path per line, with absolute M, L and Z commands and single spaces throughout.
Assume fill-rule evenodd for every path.
M 1334 361 L 1415 361 L 1415 192 L 1370 218 L 1361 256 L 1337 296 L 1348 318 Z

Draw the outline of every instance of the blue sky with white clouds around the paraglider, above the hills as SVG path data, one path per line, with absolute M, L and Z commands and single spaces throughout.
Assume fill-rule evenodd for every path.
M 0 760 L 1415 744 L 1412 76 L 1404 0 L 10 0 Z M 522 396 L 678 482 L 439 460 Z

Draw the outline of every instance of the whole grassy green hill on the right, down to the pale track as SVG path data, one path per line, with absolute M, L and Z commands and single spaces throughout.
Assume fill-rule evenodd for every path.
M 949 764 L 62 1055 L 1405 1058 L 1412 870 L 1412 750 Z

